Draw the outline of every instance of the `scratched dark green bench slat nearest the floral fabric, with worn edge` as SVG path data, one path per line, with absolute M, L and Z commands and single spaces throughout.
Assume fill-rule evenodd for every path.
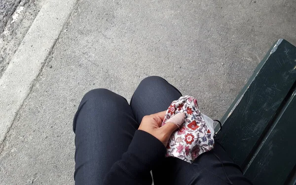
M 222 118 L 221 143 L 243 169 L 296 81 L 296 47 L 280 39 Z

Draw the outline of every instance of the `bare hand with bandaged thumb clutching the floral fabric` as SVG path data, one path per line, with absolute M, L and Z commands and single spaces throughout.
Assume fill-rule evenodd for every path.
M 142 122 L 139 126 L 139 130 L 143 130 L 156 137 L 160 142 L 163 143 L 164 146 L 167 146 L 167 143 L 172 135 L 172 133 L 178 128 L 178 125 L 181 125 L 184 122 L 184 114 L 183 115 L 175 115 L 177 117 L 181 117 L 181 119 L 177 119 L 179 123 L 170 123 L 166 122 L 165 125 L 161 126 L 163 118 L 165 116 L 166 111 L 159 112 L 156 114 L 151 114 L 148 116 L 144 116 Z M 180 114 L 180 113 L 179 113 Z M 168 120 L 170 121 L 170 120 Z

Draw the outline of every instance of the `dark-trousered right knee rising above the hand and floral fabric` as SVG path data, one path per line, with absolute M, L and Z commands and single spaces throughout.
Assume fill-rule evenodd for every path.
M 158 76 L 150 76 L 141 81 L 134 92 L 130 105 L 138 123 L 146 115 L 167 110 L 172 101 L 179 99 L 181 92 Z

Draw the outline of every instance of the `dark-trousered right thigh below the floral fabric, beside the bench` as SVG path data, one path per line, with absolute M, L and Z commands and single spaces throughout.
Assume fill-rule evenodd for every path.
M 219 143 L 192 164 L 167 157 L 152 173 L 155 185 L 252 185 Z

